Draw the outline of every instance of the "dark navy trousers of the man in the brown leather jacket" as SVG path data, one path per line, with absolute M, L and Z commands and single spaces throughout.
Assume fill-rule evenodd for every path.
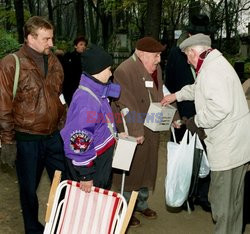
M 65 156 L 59 132 L 39 140 L 17 140 L 16 171 L 19 183 L 26 234 L 43 233 L 38 221 L 38 198 L 36 194 L 44 168 L 52 181 L 55 170 L 65 177 Z

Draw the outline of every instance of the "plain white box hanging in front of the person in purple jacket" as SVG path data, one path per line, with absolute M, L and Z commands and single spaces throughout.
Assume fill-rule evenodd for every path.
M 129 171 L 136 146 L 137 142 L 135 137 L 119 137 L 113 157 L 112 167 Z

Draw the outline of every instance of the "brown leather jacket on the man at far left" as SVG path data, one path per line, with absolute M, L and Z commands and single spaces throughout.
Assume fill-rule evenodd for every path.
M 16 53 L 20 75 L 16 97 L 13 98 L 15 59 L 7 55 L 0 61 L 0 133 L 1 141 L 15 141 L 15 131 L 47 135 L 58 129 L 65 114 L 59 95 L 63 69 L 54 54 L 48 56 L 46 77 L 23 45 Z

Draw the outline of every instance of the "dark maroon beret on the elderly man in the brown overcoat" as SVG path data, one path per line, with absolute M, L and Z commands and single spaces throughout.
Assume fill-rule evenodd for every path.
M 153 37 L 143 37 L 136 42 L 136 49 L 150 52 L 150 53 L 157 53 L 162 52 L 166 49 L 166 45 L 163 46 L 160 42 L 155 40 Z

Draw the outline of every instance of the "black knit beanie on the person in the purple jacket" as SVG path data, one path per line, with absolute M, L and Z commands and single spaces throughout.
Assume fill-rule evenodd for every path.
M 82 71 L 95 75 L 113 65 L 112 56 L 101 47 L 92 45 L 81 57 Z

